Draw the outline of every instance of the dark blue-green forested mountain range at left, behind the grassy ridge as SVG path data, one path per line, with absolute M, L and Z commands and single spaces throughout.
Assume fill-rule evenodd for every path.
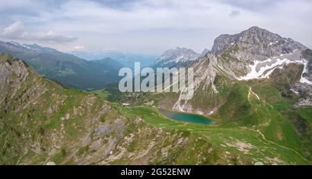
M 89 62 L 53 48 L 23 45 L 15 41 L 0 41 L 0 53 L 23 59 L 40 74 L 64 86 L 80 89 L 104 88 L 107 84 L 118 82 L 118 72 L 123 67 L 123 64 L 108 57 Z

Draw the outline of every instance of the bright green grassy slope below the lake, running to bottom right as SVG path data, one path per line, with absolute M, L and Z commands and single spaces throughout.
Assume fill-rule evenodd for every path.
M 227 164 L 253 164 L 254 162 L 263 162 L 264 164 L 309 163 L 299 152 L 275 142 L 270 142 L 260 131 L 252 128 L 184 124 L 169 120 L 160 115 L 156 109 L 150 107 L 120 108 L 125 116 L 141 116 L 146 123 L 152 126 L 164 130 L 189 132 L 200 136 L 200 138 L 207 140 L 218 153 L 223 153 L 223 156 L 216 156 L 216 158 L 219 158 L 219 160 L 222 158 L 221 161 Z M 191 158 L 188 155 L 192 155 L 192 153 L 185 153 L 184 155 L 184 158 Z

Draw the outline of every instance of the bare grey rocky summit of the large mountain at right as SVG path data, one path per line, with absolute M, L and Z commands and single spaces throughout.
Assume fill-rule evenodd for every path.
M 293 39 L 286 39 L 278 34 L 259 27 L 252 27 L 235 35 L 220 35 L 214 41 L 211 53 L 227 53 L 247 61 L 264 61 L 270 57 L 291 54 L 295 50 L 306 50 L 302 44 Z

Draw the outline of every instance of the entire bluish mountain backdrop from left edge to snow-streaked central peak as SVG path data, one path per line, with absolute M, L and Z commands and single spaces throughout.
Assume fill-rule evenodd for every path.
M 140 62 L 141 68 L 146 66 L 186 67 L 209 53 L 209 50 L 204 50 L 200 55 L 188 48 L 175 48 L 166 50 L 160 57 L 120 52 L 92 54 L 76 51 L 68 54 L 37 44 L 0 41 L 0 53 L 8 53 L 23 59 L 38 73 L 68 88 L 93 90 L 118 82 L 119 69 L 134 68 L 135 62 Z

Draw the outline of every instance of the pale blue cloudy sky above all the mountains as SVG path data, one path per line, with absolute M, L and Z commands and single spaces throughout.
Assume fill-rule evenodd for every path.
M 311 0 L 0 0 L 0 39 L 70 52 L 201 53 L 251 26 L 312 48 Z

